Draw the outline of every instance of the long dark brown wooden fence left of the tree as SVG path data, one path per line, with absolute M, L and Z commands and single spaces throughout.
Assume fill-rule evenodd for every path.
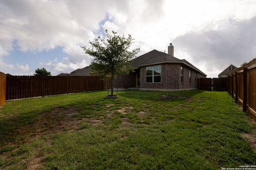
M 7 76 L 6 100 L 102 90 L 100 77 Z

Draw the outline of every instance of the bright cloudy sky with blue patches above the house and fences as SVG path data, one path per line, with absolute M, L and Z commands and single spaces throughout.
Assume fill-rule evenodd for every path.
M 256 0 L 0 0 L 0 71 L 52 75 L 90 65 L 81 46 L 104 30 L 134 38 L 139 55 L 166 51 L 207 77 L 256 56 Z

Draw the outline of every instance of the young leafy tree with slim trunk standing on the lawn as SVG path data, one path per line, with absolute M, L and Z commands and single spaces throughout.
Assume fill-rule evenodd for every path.
M 117 35 L 112 31 L 112 35 L 106 30 L 106 38 L 95 38 L 89 41 L 92 48 L 82 47 L 86 54 L 93 56 L 91 68 L 102 77 L 111 78 L 111 96 L 114 91 L 114 78 L 116 75 L 129 74 L 132 71 L 131 60 L 139 52 L 139 48 L 130 50 L 133 43 L 131 35 L 127 38 Z

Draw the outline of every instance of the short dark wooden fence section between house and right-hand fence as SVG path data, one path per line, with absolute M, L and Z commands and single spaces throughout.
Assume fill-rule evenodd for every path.
M 208 91 L 227 91 L 227 78 L 198 78 L 198 89 Z

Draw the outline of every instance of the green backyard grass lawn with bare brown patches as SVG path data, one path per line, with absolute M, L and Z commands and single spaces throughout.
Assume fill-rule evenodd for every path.
M 119 99 L 105 99 L 106 93 L 6 102 L 0 111 L 0 169 L 256 164 L 250 145 L 256 125 L 227 92 L 125 90 Z

